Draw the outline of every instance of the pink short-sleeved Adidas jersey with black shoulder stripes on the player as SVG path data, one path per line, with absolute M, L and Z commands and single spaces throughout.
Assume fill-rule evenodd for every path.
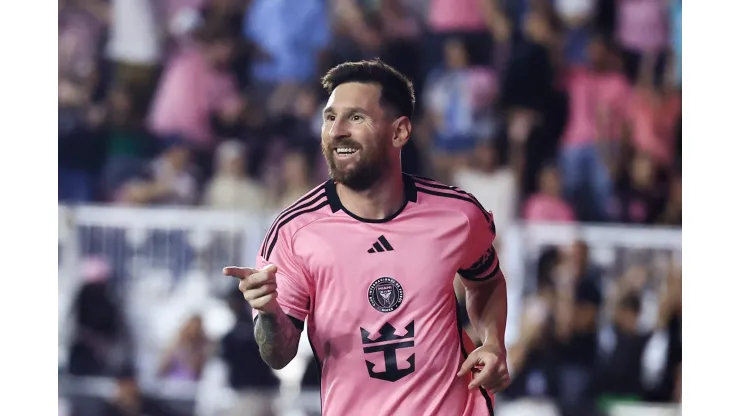
M 275 220 L 257 267 L 278 267 L 278 303 L 307 321 L 324 415 L 492 414 L 492 396 L 457 377 L 472 343 L 453 289 L 456 272 L 502 276 L 492 215 L 458 188 L 404 184 L 384 220 L 346 210 L 332 181 L 315 188 Z

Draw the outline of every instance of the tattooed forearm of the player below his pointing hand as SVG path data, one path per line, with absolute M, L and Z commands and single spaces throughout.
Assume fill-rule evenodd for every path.
M 267 365 L 279 370 L 295 357 L 301 333 L 283 311 L 261 314 L 254 328 L 260 356 Z

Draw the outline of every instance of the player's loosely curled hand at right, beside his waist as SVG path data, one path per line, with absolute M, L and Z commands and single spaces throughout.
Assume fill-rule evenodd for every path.
M 473 369 L 483 366 L 479 371 Z M 458 377 L 473 371 L 473 381 L 468 389 L 483 387 L 492 393 L 498 393 L 509 386 L 509 368 L 506 365 L 506 350 L 484 344 L 468 355 L 460 367 Z

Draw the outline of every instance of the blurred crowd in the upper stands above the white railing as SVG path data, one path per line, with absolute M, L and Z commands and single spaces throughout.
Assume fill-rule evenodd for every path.
M 59 199 L 278 210 L 326 178 L 319 77 L 374 57 L 404 169 L 501 227 L 681 224 L 681 0 L 60 0 Z

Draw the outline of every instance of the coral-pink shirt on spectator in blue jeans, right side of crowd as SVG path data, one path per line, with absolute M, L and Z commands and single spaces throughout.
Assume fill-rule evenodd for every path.
M 570 116 L 563 134 L 563 145 L 591 143 L 597 139 L 618 139 L 626 121 L 630 99 L 630 85 L 619 73 L 599 74 L 585 68 L 574 69 L 567 83 L 570 97 Z M 608 124 L 598 129 L 599 112 L 603 111 Z M 598 137 L 600 134 L 607 137 Z

